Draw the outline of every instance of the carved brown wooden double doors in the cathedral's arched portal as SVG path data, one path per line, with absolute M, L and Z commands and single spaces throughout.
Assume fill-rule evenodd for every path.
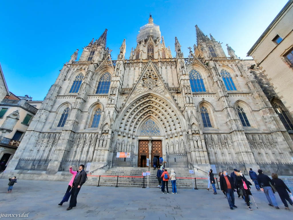
M 162 156 L 162 141 L 151 141 L 151 158 L 149 158 L 149 140 L 138 141 L 138 167 L 147 167 L 147 158 L 149 158 L 150 166 L 152 166 L 153 158 Z

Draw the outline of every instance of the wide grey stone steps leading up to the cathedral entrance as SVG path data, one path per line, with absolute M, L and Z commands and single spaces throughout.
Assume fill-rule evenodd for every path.
M 171 168 L 166 168 L 170 175 Z M 195 188 L 195 180 L 196 177 L 196 185 L 198 189 L 205 189 L 207 187 L 207 178 L 205 173 L 196 173 L 193 175 L 193 179 L 185 179 L 180 177 L 191 177 L 191 174 L 188 171 L 188 168 L 174 168 L 176 172 L 176 187 L 177 188 Z M 89 174 L 88 180 L 85 185 L 95 185 L 97 186 L 112 186 L 115 187 L 117 184 L 117 176 L 118 177 L 118 187 L 143 187 L 143 178 L 142 172 L 148 171 L 147 167 L 111 167 L 109 170 L 103 173 L 98 174 Z M 149 176 L 149 187 L 154 188 L 159 185 L 159 182 L 156 178 L 157 170 L 153 170 L 151 168 L 149 170 L 151 175 Z M 100 176 L 100 177 L 99 177 Z M 131 177 L 129 177 L 131 176 Z M 98 183 L 100 178 L 100 182 Z M 144 177 L 144 186 L 147 187 L 147 177 Z M 168 187 L 171 188 L 171 181 L 168 183 Z M 217 185 L 216 185 L 217 187 Z M 211 187 L 210 187 L 211 188 Z

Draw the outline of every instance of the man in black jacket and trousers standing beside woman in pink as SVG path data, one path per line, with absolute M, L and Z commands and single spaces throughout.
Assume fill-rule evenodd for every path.
M 78 172 L 73 180 L 72 189 L 71 189 L 71 197 L 69 202 L 69 207 L 66 210 L 72 209 L 72 207 L 76 207 L 76 199 L 79 193 L 81 186 L 86 182 L 86 172 L 84 171 L 84 165 L 79 165 Z

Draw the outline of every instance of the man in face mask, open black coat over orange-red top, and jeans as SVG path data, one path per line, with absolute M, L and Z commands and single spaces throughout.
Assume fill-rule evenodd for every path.
M 220 186 L 221 186 L 221 190 L 226 193 L 230 209 L 233 210 L 233 208 L 237 208 L 237 206 L 234 203 L 235 202 L 235 198 L 234 198 L 235 183 L 233 182 L 231 177 L 228 176 L 227 171 L 224 171 L 223 175 L 220 176 Z

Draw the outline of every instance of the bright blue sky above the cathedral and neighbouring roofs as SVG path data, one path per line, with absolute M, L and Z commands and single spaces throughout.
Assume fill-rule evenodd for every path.
M 2 1 L 0 63 L 9 91 L 43 100 L 74 51 L 108 29 L 107 46 L 116 60 L 123 39 L 128 59 L 139 28 L 151 12 L 175 56 L 175 37 L 185 57 L 196 43 L 195 25 L 246 53 L 287 0 L 246 1 Z

